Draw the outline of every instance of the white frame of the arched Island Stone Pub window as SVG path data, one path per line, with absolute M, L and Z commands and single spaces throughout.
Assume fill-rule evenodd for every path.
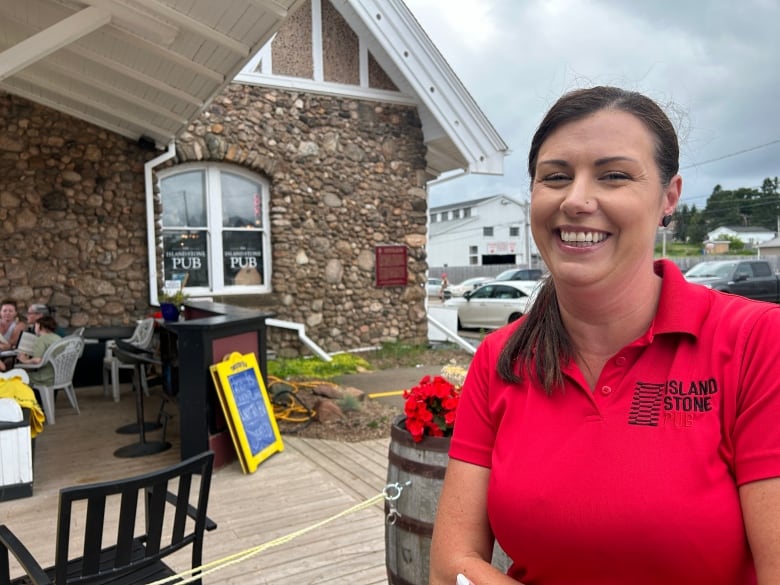
M 210 285 L 205 286 L 188 286 L 184 288 L 184 291 L 189 296 L 209 296 L 209 295 L 248 295 L 248 294 L 266 294 L 271 292 L 271 234 L 270 234 L 270 218 L 268 207 L 270 205 L 270 191 L 269 184 L 262 176 L 247 171 L 241 167 L 233 166 L 226 163 L 209 162 L 209 163 L 184 163 L 176 165 L 169 169 L 159 171 L 158 178 L 160 184 L 163 181 L 173 177 L 175 175 L 192 172 L 202 171 L 205 173 L 205 189 L 206 189 L 206 233 L 207 233 L 207 251 L 208 251 L 208 272 Z M 256 183 L 260 186 L 261 200 L 262 200 L 262 254 L 263 254 L 263 266 L 262 275 L 263 283 L 260 285 L 226 285 L 225 274 L 223 271 L 223 258 L 222 258 L 222 232 L 225 230 L 222 225 L 222 191 L 220 184 L 221 174 L 229 173 L 237 175 L 248 181 Z M 160 211 L 162 218 L 162 210 Z M 165 228 L 162 226 L 160 220 L 160 233 L 164 233 Z M 214 237 L 214 236 L 218 237 Z M 164 253 L 164 249 L 163 249 Z M 165 278 L 165 275 L 163 275 Z

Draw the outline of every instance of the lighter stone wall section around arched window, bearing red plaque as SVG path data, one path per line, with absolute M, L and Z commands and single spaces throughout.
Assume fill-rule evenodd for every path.
M 176 162 L 269 179 L 273 293 L 220 300 L 303 323 L 327 351 L 425 341 L 424 157 L 415 108 L 231 85 L 177 142 Z M 386 244 L 407 246 L 406 287 L 375 286 Z M 283 330 L 269 339 L 282 355 L 304 349 Z

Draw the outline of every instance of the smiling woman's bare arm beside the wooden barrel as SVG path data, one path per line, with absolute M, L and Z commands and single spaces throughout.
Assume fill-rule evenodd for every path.
M 490 565 L 489 479 L 490 469 L 450 459 L 433 527 L 430 585 L 455 585 L 458 573 L 475 585 L 517 585 Z

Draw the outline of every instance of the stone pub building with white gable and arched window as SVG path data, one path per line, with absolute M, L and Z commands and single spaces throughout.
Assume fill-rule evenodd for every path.
M 403 2 L 286 4 L 175 131 L 36 103 L 0 70 L 4 296 L 66 327 L 129 325 L 179 278 L 326 351 L 426 339 L 426 184 L 500 173 L 506 145 Z M 383 252 L 405 278 L 383 282 Z M 269 346 L 306 352 L 284 328 Z

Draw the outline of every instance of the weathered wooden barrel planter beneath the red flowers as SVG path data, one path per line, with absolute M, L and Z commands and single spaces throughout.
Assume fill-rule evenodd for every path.
M 424 437 L 415 443 L 404 426 L 404 417 L 393 421 L 387 483 L 398 483 L 403 491 L 397 500 L 385 501 L 385 516 L 390 519 L 385 522 L 385 564 L 390 585 L 428 583 L 433 521 L 449 448 L 449 437 Z

